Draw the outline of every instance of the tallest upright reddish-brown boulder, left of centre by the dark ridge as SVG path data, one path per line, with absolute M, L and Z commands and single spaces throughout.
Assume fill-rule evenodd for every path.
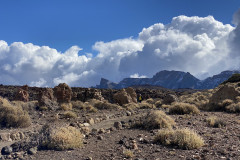
M 69 103 L 71 101 L 72 89 L 66 83 L 60 83 L 58 86 L 55 86 L 53 91 L 57 102 Z

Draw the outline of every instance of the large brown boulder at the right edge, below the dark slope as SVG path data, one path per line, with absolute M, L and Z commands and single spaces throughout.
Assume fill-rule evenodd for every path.
M 240 96 L 240 90 L 236 84 L 221 85 L 209 99 L 209 104 L 218 105 L 225 99 L 236 101 L 237 96 Z

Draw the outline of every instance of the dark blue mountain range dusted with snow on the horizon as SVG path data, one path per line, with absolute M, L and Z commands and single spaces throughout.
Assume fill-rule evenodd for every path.
M 100 84 L 95 88 L 121 89 L 131 86 L 151 85 L 169 89 L 212 89 L 235 73 L 240 73 L 240 71 L 223 71 L 220 74 L 208 77 L 204 80 L 199 80 L 189 72 L 163 70 L 156 73 L 152 78 L 124 78 L 119 83 L 114 83 L 102 78 Z

